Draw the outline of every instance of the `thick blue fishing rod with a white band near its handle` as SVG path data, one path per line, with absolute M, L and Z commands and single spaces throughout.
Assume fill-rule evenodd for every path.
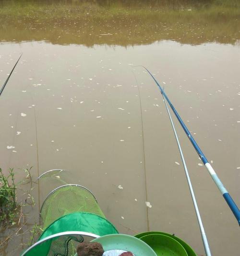
M 232 213 L 234 214 L 235 218 L 238 220 L 238 223 L 240 225 L 240 210 L 239 210 L 238 206 L 235 204 L 235 202 L 233 201 L 232 197 L 229 195 L 227 189 L 224 187 L 223 183 L 218 178 L 218 176 L 217 176 L 216 172 L 214 171 L 213 167 L 208 162 L 207 158 L 204 156 L 203 151 L 197 145 L 197 143 L 194 140 L 192 134 L 189 132 L 187 126 L 184 124 L 184 122 L 180 118 L 180 115 L 178 114 L 178 112 L 174 108 L 174 106 L 172 105 L 171 101 L 169 100 L 168 96 L 166 95 L 166 93 L 164 92 L 162 87 L 159 85 L 159 83 L 156 81 L 155 77 L 150 73 L 150 71 L 147 68 L 145 68 L 144 66 L 142 66 L 142 67 L 151 75 L 151 77 L 155 81 L 156 85 L 158 86 L 158 88 L 159 88 L 163 98 L 168 101 L 169 106 L 171 107 L 173 113 L 175 114 L 175 116 L 177 117 L 178 121 L 180 122 L 180 125 L 183 128 L 185 134 L 187 134 L 189 140 L 192 143 L 192 146 L 195 148 L 196 152 L 198 153 L 199 157 L 201 158 L 202 162 L 204 163 L 204 166 L 206 167 L 207 171 L 211 175 L 211 177 L 212 177 L 213 181 L 215 182 L 216 186 L 218 187 L 218 189 L 222 193 L 224 199 L 226 200 L 228 206 L 230 207 Z

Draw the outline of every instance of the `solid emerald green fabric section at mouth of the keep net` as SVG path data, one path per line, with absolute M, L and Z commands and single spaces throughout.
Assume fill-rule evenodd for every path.
M 94 233 L 99 236 L 117 234 L 116 228 L 107 220 L 96 214 L 75 212 L 54 221 L 40 236 L 39 240 L 49 235 L 65 231 L 83 231 Z M 73 236 L 60 236 L 49 239 L 42 244 L 33 247 L 26 256 L 73 256 L 76 253 L 76 238 Z M 79 237 L 81 241 L 81 236 Z

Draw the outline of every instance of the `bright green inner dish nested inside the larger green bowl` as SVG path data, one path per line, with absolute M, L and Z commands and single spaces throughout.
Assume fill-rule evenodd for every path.
M 188 256 L 184 247 L 175 239 L 162 234 L 148 234 L 140 238 L 157 256 Z

